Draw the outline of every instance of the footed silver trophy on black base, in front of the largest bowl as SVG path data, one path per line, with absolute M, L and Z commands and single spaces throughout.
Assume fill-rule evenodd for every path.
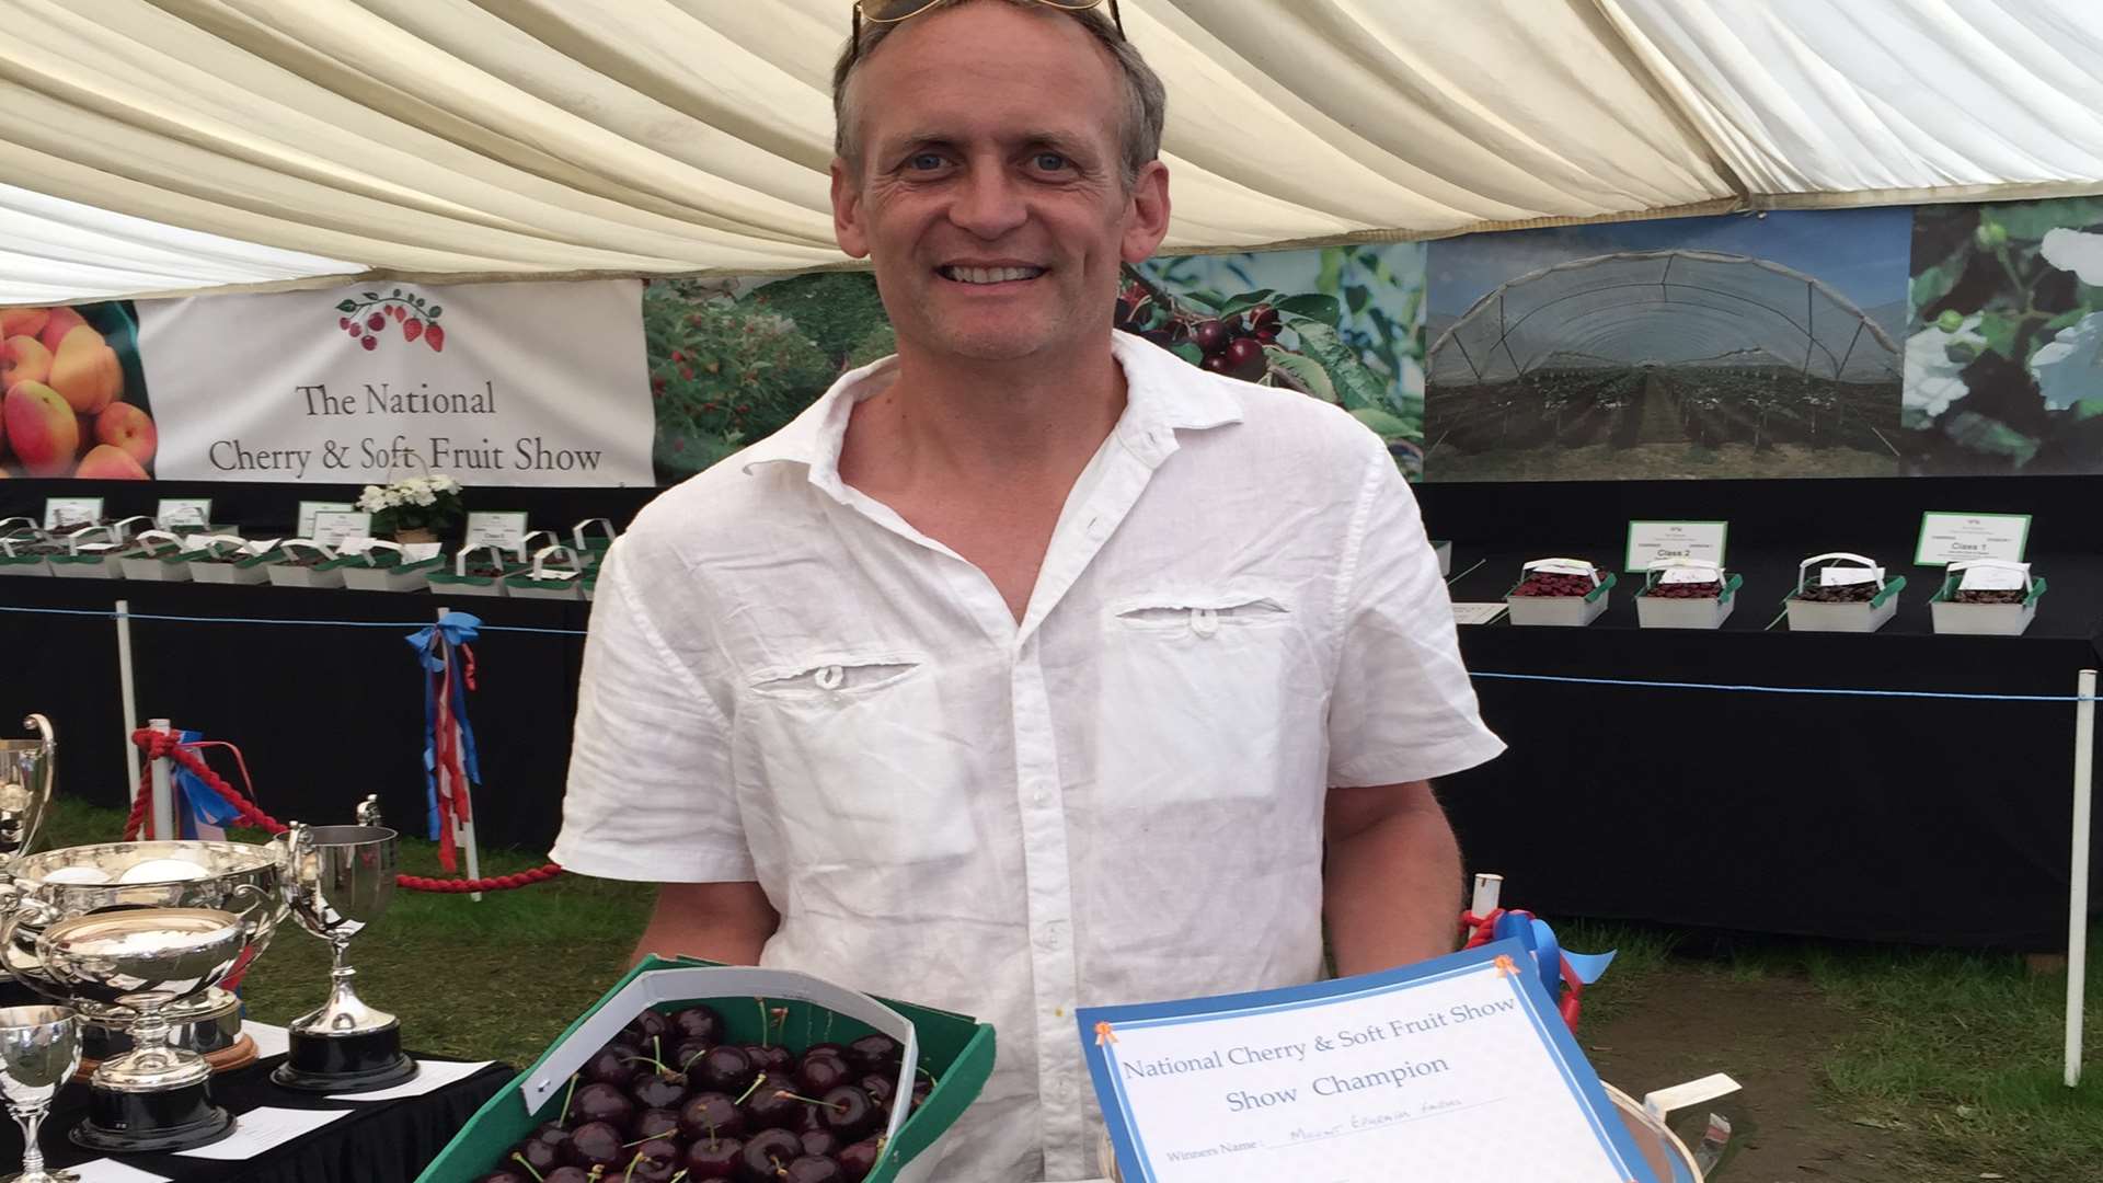
M 61 920 L 36 937 L 44 973 L 84 1002 L 132 1017 L 132 1050 L 88 1078 L 76 1143 L 101 1151 L 187 1149 L 233 1118 L 210 1101 L 204 1057 L 168 1040 L 168 1006 L 219 985 L 242 962 L 254 920 L 212 907 L 139 907 Z

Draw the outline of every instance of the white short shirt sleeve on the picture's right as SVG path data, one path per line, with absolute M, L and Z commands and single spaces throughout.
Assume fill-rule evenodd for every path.
M 1367 467 L 1344 556 L 1329 783 L 1428 781 L 1504 751 L 1476 711 L 1417 499 L 1386 453 Z

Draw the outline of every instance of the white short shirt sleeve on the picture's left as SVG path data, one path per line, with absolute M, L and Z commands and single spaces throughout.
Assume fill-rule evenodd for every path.
M 692 600 L 675 556 L 622 537 L 606 556 L 576 693 L 570 781 L 551 859 L 614 880 L 744 882 L 730 724 L 656 625 Z M 683 615 L 683 613 L 681 613 Z

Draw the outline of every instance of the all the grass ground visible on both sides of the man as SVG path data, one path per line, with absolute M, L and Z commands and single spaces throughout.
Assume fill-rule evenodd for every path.
M 40 846 L 107 842 L 122 825 L 118 810 L 63 802 Z M 482 853 L 484 874 L 538 863 Z M 402 869 L 444 874 L 437 846 L 404 840 Z M 583 876 L 479 903 L 404 890 L 351 943 L 351 964 L 360 994 L 402 1017 L 410 1048 L 524 1067 L 627 970 L 650 905 L 644 884 Z M 1907 1130 L 1924 1156 L 2010 1179 L 2086 1179 L 2103 1162 L 2103 926 L 2090 937 L 2080 1088 L 2061 1084 L 2065 977 L 2031 975 L 2015 956 L 1584 920 L 1558 922 L 1556 935 L 1571 949 L 1619 949 L 1586 994 L 1588 1023 L 1640 1021 L 1645 996 L 1687 973 L 1809 981 L 1851 1017 L 1815 1067 L 1825 1111 Z M 326 977 L 322 941 L 286 922 L 244 983 L 248 1015 L 286 1023 L 320 1004 Z M 1729 1019 L 1718 1017 L 1720 1055 Z

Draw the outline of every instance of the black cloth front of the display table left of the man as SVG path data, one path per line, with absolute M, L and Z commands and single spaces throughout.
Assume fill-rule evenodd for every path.
M 551 629 L 490 634 L 475 644 L 469 718 L 494 737 L 479 745 L 484 783 L 515 802 L 479 813 L 477 838 L 526 848 L 553 840 L 591 604 L 0 577 L 0 606 L 109 613 L 120 598 L 132 613 L 202 619 L 132 621 L 141 718 L 162 716 L 238 743 L 257 779 L 257 804 L 271 817 L 349 823 L 353 804 L 379 794 L 387 819 L 410 838 L 423 836 L 427 806 L 423 682 L 404 640 L 408 631 L 435 621 L 440 606 L 490 625 Z M 402 627 L 254 619 L 402 621 Z M 17 735 L 8 720 L 25 711 L 50 716 L 59 728 L 59 794 L 126 806 L 116 623 L 99 615 L 0 610 L 0 646 L 19 671 L 0 686 L 0 735 Z M 225 768 L 231 775 L 231 764 Z M 233 783 L 240 787 L 238 777 Z

